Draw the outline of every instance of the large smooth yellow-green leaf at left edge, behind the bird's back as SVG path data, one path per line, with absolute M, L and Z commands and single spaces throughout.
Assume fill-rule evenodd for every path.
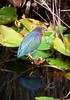
M 17 47 L 20 45 L 23 37 L 12 28 L 0 25 L 0 43 L 7 47 Z

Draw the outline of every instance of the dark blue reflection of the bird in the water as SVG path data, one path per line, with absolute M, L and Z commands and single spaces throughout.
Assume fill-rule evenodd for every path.
M 44 83 L 40 77 L 20 76 L 19 83 L 29 91 L 36 92 L 44 88 Z

